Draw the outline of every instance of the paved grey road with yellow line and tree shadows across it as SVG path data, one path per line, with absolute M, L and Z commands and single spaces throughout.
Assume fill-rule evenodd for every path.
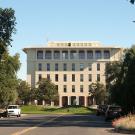
M 1 118 L 0 135 L 121 135 L 95 115 L 26 115 Z

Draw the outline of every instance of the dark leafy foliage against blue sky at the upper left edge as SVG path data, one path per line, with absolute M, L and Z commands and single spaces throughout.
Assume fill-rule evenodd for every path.
M 15 11 L 12 8 L 0 8 L 0 60 L 11 45 L 12 34 L 16 31 L 15 25 Z

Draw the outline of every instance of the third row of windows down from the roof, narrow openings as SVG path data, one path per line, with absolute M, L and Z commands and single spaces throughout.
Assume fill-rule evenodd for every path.
M 42 79 L 42 74 L 39 74 L 39 81 Z M 50 80 L 50 74 L 47 74 L 47 79 Z M 55 82 L 58 82 L 59 81 L 59 75 L 58 74 L 55 74 Z M 63 82 L 67 82 L 69 81 L 68 78 L 67 78 L 67 74 L 64 74 L 63 75 Z M 75 74 L 72 74 L 72 82 L 75 82 L 76 81 L 76 76 Z M 84 75 L 83 74 L 80 74 L 80 82 L 83 82 L 84 81 Z M 89 82 L 92 82 L 92 74 L 88 74 L 88 81 Z M 97 74 L 97 81 L 100 81 L 100 74 Z

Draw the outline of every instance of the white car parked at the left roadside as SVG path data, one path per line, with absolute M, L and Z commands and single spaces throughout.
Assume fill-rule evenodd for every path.
M 19 108 L 19 105 L 9 105 L 7 108 L 7 116 L 21 117 L 21 109 Z

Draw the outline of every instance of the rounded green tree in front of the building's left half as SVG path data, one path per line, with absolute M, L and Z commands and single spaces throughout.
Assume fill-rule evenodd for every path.
M 58 91 L 55 84 L 48 79 L 42 79 L 38 83 L 38 99 L 54 101 L 58 98 Z

